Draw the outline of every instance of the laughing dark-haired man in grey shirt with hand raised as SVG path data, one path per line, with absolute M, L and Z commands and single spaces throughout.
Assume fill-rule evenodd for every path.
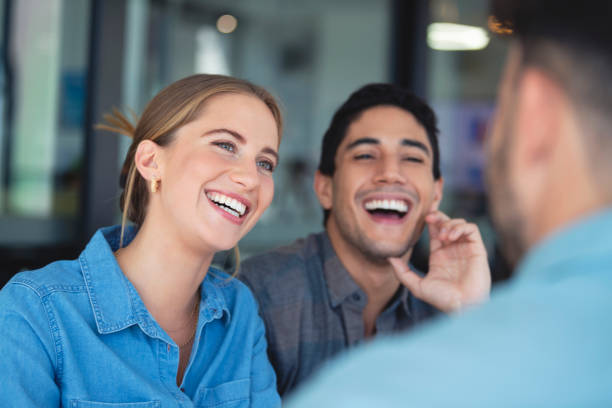
M 434 112 L 405 88 L 357 90 L 323 138 L 314 189 L 325 230 L 242 263 L 281 395 L 374 335 L 487 299 L 477 226 L 438 211 L 437 133 Z M 422 278 L 408 261 L 425 225 L 431 252 Z

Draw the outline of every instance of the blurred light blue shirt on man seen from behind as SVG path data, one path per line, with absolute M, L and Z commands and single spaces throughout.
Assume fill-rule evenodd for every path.
M 608 209 L 538 245 L 488 304 L 345 356 L 288 405 L 611 407 L 611 312 Z

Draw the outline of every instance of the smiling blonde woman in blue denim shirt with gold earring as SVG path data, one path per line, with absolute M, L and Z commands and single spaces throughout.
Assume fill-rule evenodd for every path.
M 243 80 L 194 75 L 155 96 L 135 126 L 116 111 L 106 119 L 101 128 L 133 139 L 122 225 L 96 232 L 78 260 L 2 289 L 11 376 L 0 405 L 279 405 L 255 301 L 210 267 L 272 201 L 276 101 Z

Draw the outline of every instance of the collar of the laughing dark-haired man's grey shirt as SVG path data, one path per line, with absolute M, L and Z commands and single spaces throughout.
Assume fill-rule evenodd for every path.
M 342 262 L 340 262 L 340 258 L 338 258 L 336 251 L 334 251 L 327 231 L 323 232 L 321 237 L 323 273 L 325 275 L 325 281 L 327 282 L 327 291 L 332 307 L 337 307 L 342 304 L 346 298 L 354 293 L 359 293 L 365 297 L 366 294 L 364 291 L 357 285 L 357 282 L 353 280 L 351 274 L 346 270 Z M 399 290 L 399 296 L 394 299 L 393 303 L 385 308 L 385 310 L 395 309 L 398 302 L 401 302 L 405 313 L 410 316 L 410 292 L 403 285 L 400 285 Z

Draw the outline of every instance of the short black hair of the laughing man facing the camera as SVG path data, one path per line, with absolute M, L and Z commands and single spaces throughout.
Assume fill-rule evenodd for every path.
M 336 152 L 346 136 L 346 132 L 355 120 L 367 109 L 376 106 L 395 106 L 411 113 L 423 126 L 433 153 L 433 176 L 440 178 L 440 150 L 438 147 L 438 126 L 434 111 L 423 100 L 407 89 L 393 84 L 365 85 L 344 102 L 334 114 L 329 128 L 323 136 L 319 171 L 326 176 L 333 176 L 336 171 Z M 329 211 L 324 210 L 325 221 Z

